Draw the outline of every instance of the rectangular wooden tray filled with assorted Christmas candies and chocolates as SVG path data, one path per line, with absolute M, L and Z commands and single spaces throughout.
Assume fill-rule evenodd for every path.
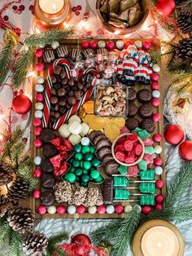
M 165 195 L 159 42 L 68 39 L 33 67 L 36 218 L 124 218 Z

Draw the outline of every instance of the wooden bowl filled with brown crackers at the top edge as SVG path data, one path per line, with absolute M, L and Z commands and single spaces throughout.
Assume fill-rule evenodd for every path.
M 96 9 L 103 26 L 111 33 L 134 33 L 150 12 L 150 0 L 97 0 Z

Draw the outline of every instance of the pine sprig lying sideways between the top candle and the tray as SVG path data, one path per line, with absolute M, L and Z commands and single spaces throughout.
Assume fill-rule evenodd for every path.
M 27 46 L 39 46 L 40 44 L 46 45 L 54 41 L 63 40 L 73 35 L 73 27 L 66 29 L 48 29 L 44 33 L 37 33 L 29 36 L 24 43 Z

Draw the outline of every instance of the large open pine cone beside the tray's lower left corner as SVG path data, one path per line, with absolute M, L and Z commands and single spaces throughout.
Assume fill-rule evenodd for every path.
M 7 221 L 16 232 L 25 233 L 34 225 L 34 216 L 27 206 L 16 206 L 8 212 Z

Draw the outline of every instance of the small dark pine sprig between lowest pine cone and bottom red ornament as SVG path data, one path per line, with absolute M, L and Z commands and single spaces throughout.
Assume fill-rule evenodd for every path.
M 68 239 L 68 233 L 67 232 L 61 232 L 56 236 L 51 236 L 48 240 L 48 246 L 47 246 L 47 254 L 48 256 L 52 256 L 55 251 L 55 245 L 65 241 Z

